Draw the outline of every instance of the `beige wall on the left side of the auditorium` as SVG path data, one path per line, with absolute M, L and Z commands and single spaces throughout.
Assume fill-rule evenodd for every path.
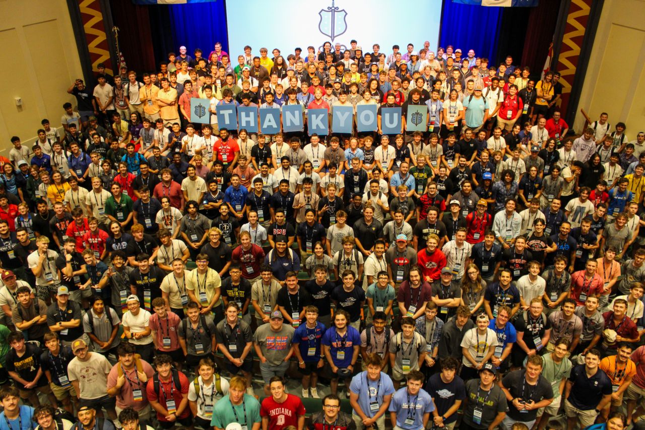
M 83 74 L 65 0 L 0 0 L 0 17 L 0 46 L 10 52 L 0 67 L 0 155 L 7 156 L 10 137 L 32 142 L 43 118 L 61 127 L 63 103 L 75 105 L 66 89 Z

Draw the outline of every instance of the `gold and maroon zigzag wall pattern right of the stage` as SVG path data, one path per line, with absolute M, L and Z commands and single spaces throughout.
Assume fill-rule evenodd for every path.
M 591 0 L 571 0 L 569 6 L 560 55 L 555 69 L 561 73 L 560 83 L 563 88 L 560 108 L 562 110 L 566 110 L 571 96 L 571 85 L 579 62 L 580 47 L 586 33 L 590 9 Z

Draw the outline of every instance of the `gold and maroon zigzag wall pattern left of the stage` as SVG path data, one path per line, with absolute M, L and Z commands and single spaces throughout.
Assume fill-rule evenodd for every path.
M 99 63 L 104 63 L 106 72 L 114 75 L 103 23 L 103 13 L 101 12 L 101 3 L 98 0 L 79 0 L 79 10 L 83 21 L 85 40 L 92 61 L 92 70 L 96 70 Z

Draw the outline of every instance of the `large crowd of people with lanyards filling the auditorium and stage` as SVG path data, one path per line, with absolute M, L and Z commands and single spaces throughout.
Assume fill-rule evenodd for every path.
M 645 132 L 575 134 L 557 72 L 428 45 L 76 79 L 0 160 L 0 430 L 642 425 Z M 374 132 L 308 133 L 360 105 Z

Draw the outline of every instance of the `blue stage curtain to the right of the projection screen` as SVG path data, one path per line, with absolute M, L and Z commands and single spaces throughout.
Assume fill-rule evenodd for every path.
M 461 48 L 462 57 L 473 49 L 475 56 L 494 60 L 501 20 L 502 8 L 461 5 L 444 0 L 439 46 L 444 49 L 447 45 Z

